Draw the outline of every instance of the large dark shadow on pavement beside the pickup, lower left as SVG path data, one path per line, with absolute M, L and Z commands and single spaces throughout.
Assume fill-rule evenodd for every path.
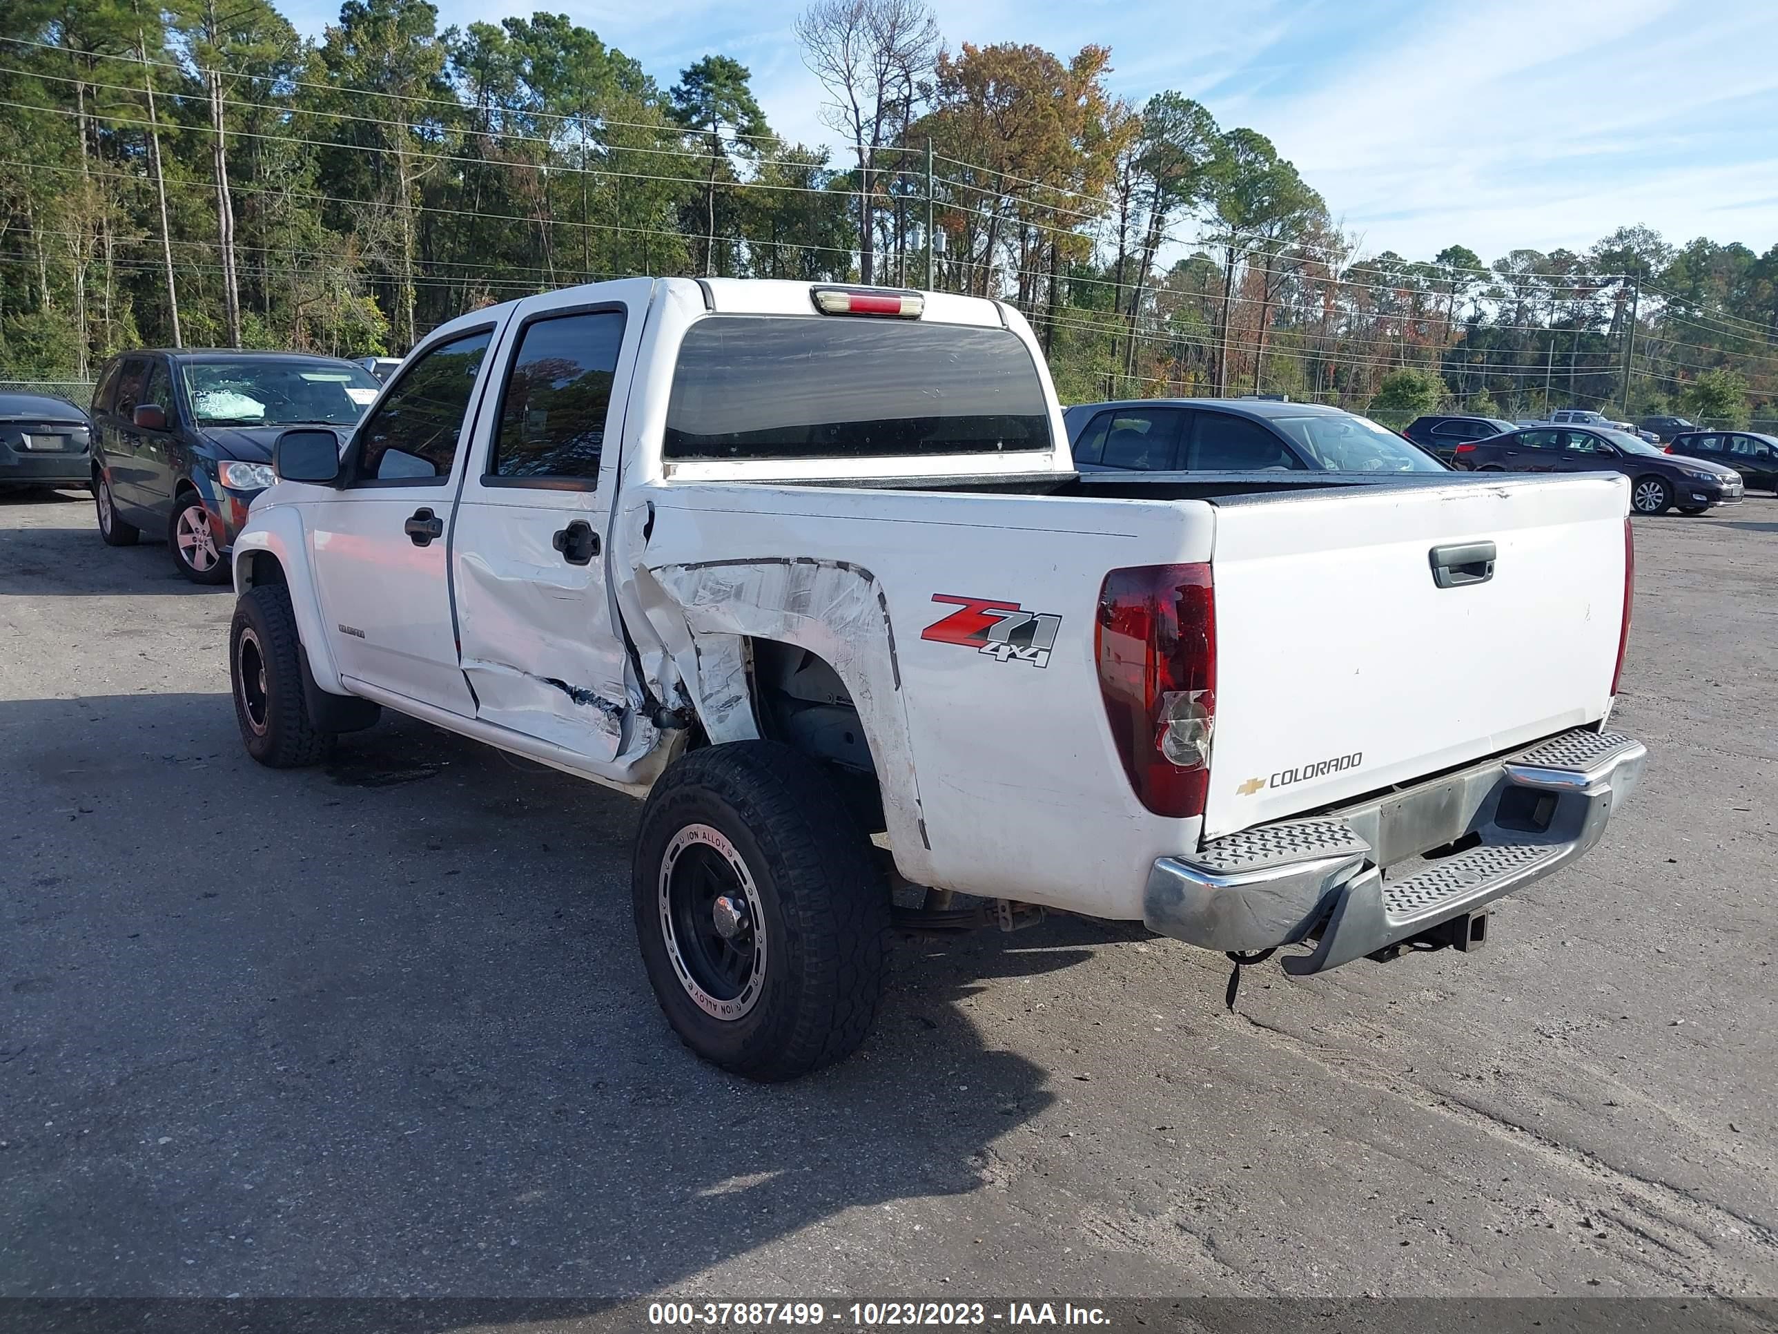
M 621 1298 L 974 1192 L 1053 1094 L 960 1007 L 1108 939 L 903 944 L 857 1057 L 752 1085 L 654 1003 L 622 795 L 400 719 L 263 770 L 222 694 L 0 749 L 0 1295 Z

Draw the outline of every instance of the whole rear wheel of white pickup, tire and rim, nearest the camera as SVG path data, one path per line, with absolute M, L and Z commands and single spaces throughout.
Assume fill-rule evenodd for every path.
M 848 1057 L 884 985 L 889 886 L 836 784 L 775 742 L 713 745 L 649 793 L 631 893 L 679 1039 L 754 1080 Z

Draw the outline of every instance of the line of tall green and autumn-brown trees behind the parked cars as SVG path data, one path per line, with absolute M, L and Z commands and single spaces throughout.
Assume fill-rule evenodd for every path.
M 1778 418 L 1778 245 L 1367 254 L 1257 130 L 1115 96 L 1104 46 L 951 50 L 923 0 L 814 0 L 797 39 L 837 157 L 738 60 L 667 80 L 560 14 L 345 0 L 308 41 L 268 0 L 14 0 L 0 375 L 404 352 L 530 292 L 722 274 L 1001 297 L 1063 400 Z

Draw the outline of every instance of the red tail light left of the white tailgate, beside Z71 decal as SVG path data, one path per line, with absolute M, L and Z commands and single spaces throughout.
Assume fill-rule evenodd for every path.
M 1136 797 L 1156 815 L 1204 815 L 1216 726 L 1211 567 L 1113 569 L 1093 642 L 1106 720 Z

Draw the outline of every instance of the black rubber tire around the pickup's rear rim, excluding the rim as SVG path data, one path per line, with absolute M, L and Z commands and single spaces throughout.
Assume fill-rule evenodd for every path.
M 706 1012 L 672 962 L 663 870 L 693 825 L 727 841 L 759 898 L 763 980 L 734 1019 Z M 889 886 L 871 854 L 830 775 L 788 745 L 711 745 L 661 775 L 635 843 L 637 939 L 654 998 L 693 1053 L 752 1080 L 793 1080 L 864 1041 L 889 944 Z

